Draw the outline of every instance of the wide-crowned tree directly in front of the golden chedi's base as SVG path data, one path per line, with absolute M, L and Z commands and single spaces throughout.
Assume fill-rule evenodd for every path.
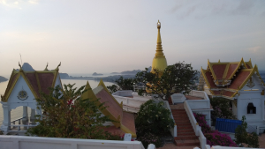
M 156 69 L 150 72 L 146 68 L 136 74 L 136 79 L 147 85 L 148 92 L 141 90 L 139 94 L 157 94 L 161 99 L 169 100 L 173 93 L 189 93 L 198 79 L 197 74 L 192 64 L 185 62 L 169 65 L 163 72 Z

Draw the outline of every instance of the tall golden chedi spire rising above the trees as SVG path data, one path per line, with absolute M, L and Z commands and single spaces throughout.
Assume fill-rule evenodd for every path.
M 157 22 L 158 34 L 157 34 L 156 50 L 155 50 L 156 53 L 155 53 L 155 57 L 154 57 L 153 63 L 152 63 L 152 71 L 154 71 L 154 69 L 157 69 L 157 70 L 163 72 L 164 69 L 168 66 L 168 64 L 167 64 L 167 60 L 166 60 L 165 56 L 163 55 L 160 28 L 161 28 L 161 23 L 158 20 L 158 22 Z

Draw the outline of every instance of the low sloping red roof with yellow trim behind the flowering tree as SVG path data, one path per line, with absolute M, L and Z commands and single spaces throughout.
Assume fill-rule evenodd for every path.
M 132 137 L 136 138 L 134 115 L 132 113 L 123 111 L 123 103 L 121 102 L 121 104 L 119 104 L 116 101 L 102 80 L 93 90 L 91 90 L 91 87 L 87 81 L 86 90 L 87 92 L 83 93 L 81 98 L 94 100 L 102 114 L 109 115 L 110 120 L 114 121 L 112 123 L 116 126 L 116 128 L 119 128 L 125 133 L 131 133 Z M 104 108 L 100 108 L 102 104 Z

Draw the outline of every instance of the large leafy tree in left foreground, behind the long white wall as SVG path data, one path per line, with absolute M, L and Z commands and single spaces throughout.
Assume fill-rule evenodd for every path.
M 37 115 L 37 125 L 27 130 L 28 135 L 51 138 L 88 138 L 106 139 L 110 133 L 102 130 L 102 123 L 110 121 L 102 116 L 95 101 L 82 99 L 80 95 L 84 87 L 73 88 L 74 85 L 64 85 L 64 90 L 57 86 L 50 88 L 49 94 L 41 93 L 41 98 L 36 99 L 47 115 L 40 119 Z

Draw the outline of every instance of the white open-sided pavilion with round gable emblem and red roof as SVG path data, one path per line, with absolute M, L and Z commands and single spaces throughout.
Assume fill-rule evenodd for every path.
M 25 133 L 26 128 L 34 126 L 35 113 L 42 115 L 42 108 L 38 108 L 34 100 L 40 98 L 40 93 L 49 93 L 49 87 L 61 86 L 59 76 L 59 66 L 55 70 L 49 71 L 48 64 L 44 71 L 27 71 L 20 69 L 11 72 L 7 88 L 4 95 L 1 95 L 1 103 L 4 110 L 4 121 L 1 130 L 7 132 Z M 22 118 L 11 122 L 11 110 L 23 106 Z M 27 107 L 31 108 L 31 116 L 28 118 Z M 22 121 L 22 123 L 21 123 Z M 16 124 L 17 123 L 17 124 Z M 21 127 L 21 130 L 20 130 Z M 16 128 L 16 129 L 14 129 Z

